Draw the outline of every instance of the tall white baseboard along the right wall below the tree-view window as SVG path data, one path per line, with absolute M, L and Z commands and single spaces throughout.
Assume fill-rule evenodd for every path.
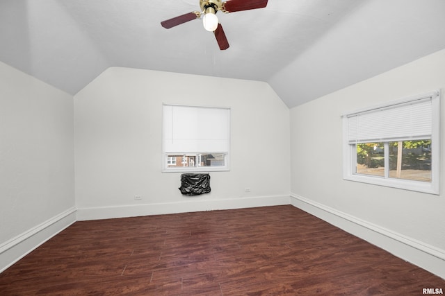
M 445 250 L 291 193 L 291 204 L 445 279 Z

